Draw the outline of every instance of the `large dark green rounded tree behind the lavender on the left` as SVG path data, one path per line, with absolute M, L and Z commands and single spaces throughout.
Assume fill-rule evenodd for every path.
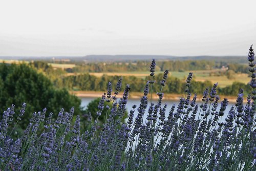
M 75 107 L 75 115 L 80 115 L 80 99 L 70 95 L 66 89 L 56 89 L 52 82 L 42 73 L 26 64 L 0 65 L 0 104 L 2 109 L 15 105 L 18 113 L 23 102 L 26 102 L 24 119 L 19 125 L 25 128 L 30 122 L 32 113 L 47 107 L 47 114 L 57 117 L 61 108 L 69 111 Z M 2 72 L 3 71 L 3 72 Z M 2 111 L 3 112 L 3 111 Z

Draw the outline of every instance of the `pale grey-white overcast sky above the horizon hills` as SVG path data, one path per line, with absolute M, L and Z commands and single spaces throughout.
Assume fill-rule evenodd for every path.
M 256 1 L 2 1 L 0 56 L 246 55 Z

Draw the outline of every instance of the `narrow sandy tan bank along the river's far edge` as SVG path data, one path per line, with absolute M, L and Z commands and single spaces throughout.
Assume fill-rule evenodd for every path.
M 96 92 L 96 91 L 70 91 L 71 94 L 77 96 L 77 97 L 93 97 L 93 98 L 98 98 L 98 97 L 101 97 L 102 94 L 104 92 Z M 131 92 L 129 94 L 129 98 L 130 99 L 140 99 L 141 97 L 143 96 L 143 93 L 141 92 Z M 163 99 L 165 100 L 180 100 L 180 98 L 184 96 L 184 95 L 181 95 L 181 94 L 164 94 L 163 96 Z M 122 93 L 120 93 L 119 95 L 117 95 L 117 98 L 121 98 L 122 97 Z M 159 96 L 157 96 L 156 93 L 154 93 L 152 95 L 152 98 L 153 99 L 158 99 Z M 150 94 L 148 96 L 148 98 L 150 98 Z M 202 96 L 201 95 L 198 95 L 197 96 L 197 99 L 201 99 Z M 236 102 L 237 100 L 237 97 L 234 97 L 234 96 L 220 96 L 221 100 L 223 98 L 227 98 L 230 102 Z

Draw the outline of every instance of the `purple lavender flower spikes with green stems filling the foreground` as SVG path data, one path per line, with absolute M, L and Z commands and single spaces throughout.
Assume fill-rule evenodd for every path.
M 252 46 L 248 60 L 252 96 L 248 95 L 244 104 L 240 90 L 237 103 L 228 112 L 226 98 L 218 108 L 218 83 L 210 92 L 209 88 L 205 89 L 201 104 L 196 94 L 191 97 L 189 88 L 193 73 L 187 77 L 185 96 L 180 98 L 177 108 L 173 105 L 166 111 L 168 104 L 162 104 L 162 91 L 168 70 L 164 72 L 161 90 L 157 93 L 159 99 L 154 104 L 154 59 L 150 67 L 152 79 L 145 84 L 140 104 L 138 108 L 133 105 L 126 123 L 121 118 L 130 86 L 126 85 L 118 100 L 121 79 L 115 96 L 111 94 L 112 84 L 108 84 L 107 93 L 102 95 L 98 105 L 97 118 L 89 120 L 91 127 L 85 132 L 80 131 L 79 116 L 71 125 L 74 108 L 69 112 L 62 109 L 55 121 L 52 113 L 45 116 L 44 109 L 33 114 L 22 137 L 11 139 L 13 128 L 9 125 L 14 117 L 17 122 L 22 119 L 26 108 L 24 103 L 19 114 L 15 114 L 12 105 L 3 113 L 0 122 L 1 170 L 256 170 L 256 86 Z M 102 113 L 104 101 L 112 101 L 112 109 L 106 106 L 106 113 Z M 226 118 L 225 113 L 228 113 Z M 101 115 L 108 117 L 102 130 L 98 130 Z M 43 125 L 44 130 L 40 132 L 38 127 Z

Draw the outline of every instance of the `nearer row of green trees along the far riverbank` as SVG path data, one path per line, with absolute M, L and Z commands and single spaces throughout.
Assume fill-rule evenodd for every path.
M 154 84 L 153 91 L 159 92 L 161 89 L 160 81 L 163 74 L 158 74 L 155 76 L 156 83 Z M 96 77 L 90 74 L 81 74 L 68 76 L 62 79 L 62 84 L 66 85 L 66 88 L 69 90 L 81 90 L 81 91 L 105 91 L 106 85 L 108 82 L 115 84 L 119 79 L 119 76 L 108 76 L 103 75 L 102 77 Z M 131 92 L 142 92 L 147 80 L 151 78 L 148 76 L 145 79 L 138 78 L 135 76 L 123 76 L 123 84 L 130 84 Z M 202 81 L 192 81 L 190 91 L 191 93 L 202 94 L 206 87 L 211 88 L 212 82 L 206 80 Z M 238 94 L 237 90 L 244 89 L 245 94 L 248 94 L 250 91 L 249 85 L 246 85 L 241 82 L 233 82 L 231 86 L 225 88 L 218 88 L 220 95 L 230 95 L 236 96 Z M 167 79 L 166 86 L 164 87 L 163 92 L 169 94 L 183 94 L 185 90 L 185 80 L 170 76 Z

